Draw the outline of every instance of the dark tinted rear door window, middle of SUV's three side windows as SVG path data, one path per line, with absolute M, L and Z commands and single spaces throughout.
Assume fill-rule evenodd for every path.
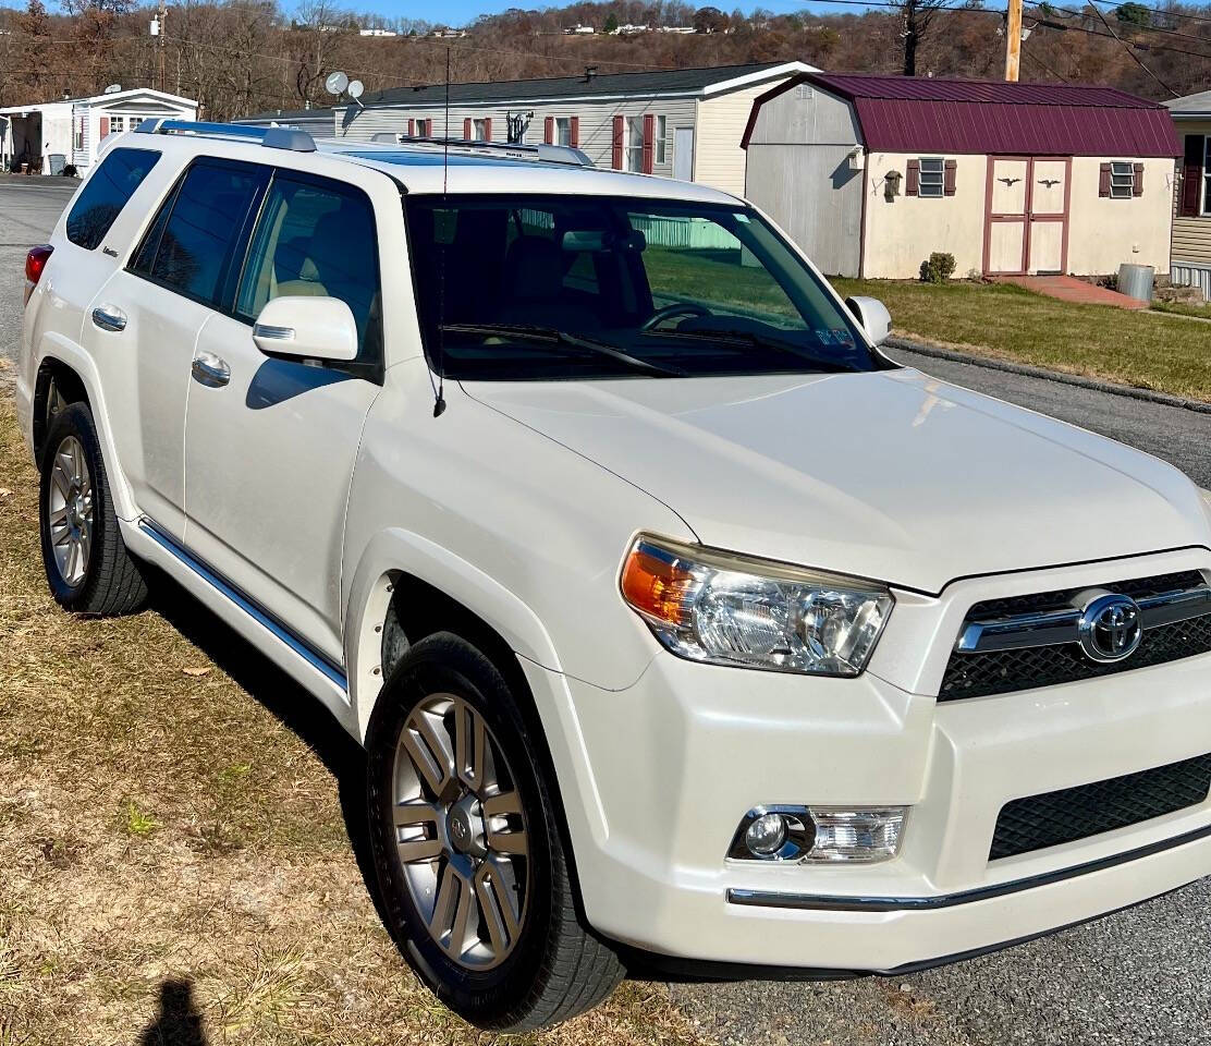
M 257 170 L 199 164 L 185 175 L 163 232 L 159 235 L 154 261 L 140 250 L 138 263 L 150 261 L 153 279 L 211 305 L 219 304 L 219 291 L 231 265 L 231 252 L 248 216 L 248 208 L 264 184 Z M 153 223 L 153 236 L 160 218 Z M 151 247 L 150 240 L 144 247 Z M 144 269 L 145 270 L 145 269 Z

